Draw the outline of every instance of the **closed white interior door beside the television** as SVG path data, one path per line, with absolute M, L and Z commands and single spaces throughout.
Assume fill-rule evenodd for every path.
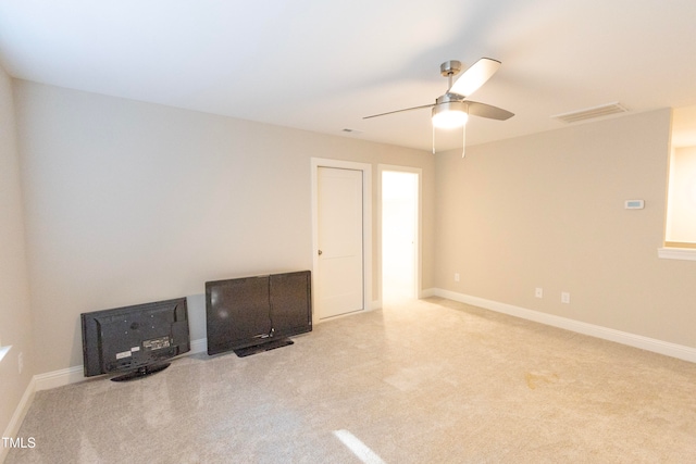
M 362 171 L 318 168 L 320 318 L 364 309 L 362 183 Z

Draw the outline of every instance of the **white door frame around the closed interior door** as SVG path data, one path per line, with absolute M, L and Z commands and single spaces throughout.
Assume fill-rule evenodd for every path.
M 362 311 L 372 310 L 372 164 L 352 161 L 312 158 L 312 288 L 319 288 L 319 168 L 334 167 L 338 170 L 362 171 Z M 312 292 L 312 308 L 316 308 L 315 292 Z M 349 315 L 347 314 L 347 315 Z M 341 316 L 336 316 L 341 317 Z M 313 324 L 320 323 L 319 315 L 312 312 Z

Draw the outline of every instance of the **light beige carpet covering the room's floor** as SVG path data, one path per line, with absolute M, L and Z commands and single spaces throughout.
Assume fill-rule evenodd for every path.
M 442 299 L 38 392 L 7 463 L 689 463 L 696 364 Z

